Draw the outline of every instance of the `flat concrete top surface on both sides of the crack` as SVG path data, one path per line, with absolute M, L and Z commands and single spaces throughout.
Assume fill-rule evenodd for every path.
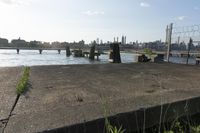
M 22 68 L 0 72 L 2 120 L 15 102 Z M 28 91 L 0 131 L 41 132 L 104 118 L 105 110 L 110 116 L 199 97 L 199 79 L 199 66 L 167 63 L 34 66 Z

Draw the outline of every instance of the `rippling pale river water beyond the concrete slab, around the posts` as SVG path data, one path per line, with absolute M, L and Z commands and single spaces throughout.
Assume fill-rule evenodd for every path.
M 0 67 L 12 66 L 37 66 L 37 65 L 67 65 L 67 64 L 103 64 L 108 63 L 108 55 L 101 55 L 99 61 L 90 61 L 86 57 L 66 57 L 65 51 L 58 54 L 56 50 L 44 50 L 39 54 L 38 50 L 0 50 Z M 121 53 L 122 63 L 131 63 L 137 61 L 137 56 L 132 53 Z M 186 58 L 171 57 L 170 62 L 186 63 Z M 195 59 L 189 59 L 190 64 L 195 64 Z

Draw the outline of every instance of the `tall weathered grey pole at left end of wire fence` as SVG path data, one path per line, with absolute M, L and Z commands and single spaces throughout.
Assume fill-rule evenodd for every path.
M 167 26 L 167 29 L 166 29 L 167 62 L 169 62 L 169 56 L 170 56 L 170 51 L 171 51 L 172 30 L 173 30 L 173 23 Z

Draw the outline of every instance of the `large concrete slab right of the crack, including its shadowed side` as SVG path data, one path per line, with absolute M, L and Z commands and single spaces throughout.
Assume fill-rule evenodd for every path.
M 198 66 L 166 63 L 31 67 L 32 88 L 18 100 L 5 133 L 103 130 L 102 99 L 113 124 L 140 129 L 145 114 L 145 128 L 151 127 L 159 121 L 159 105 L 173 103 L 167 112 L 181 116 L 184 100 L 200 96 L 199 73 Z M 198 102 L 188 105 L 190 114 L 198 112 Z

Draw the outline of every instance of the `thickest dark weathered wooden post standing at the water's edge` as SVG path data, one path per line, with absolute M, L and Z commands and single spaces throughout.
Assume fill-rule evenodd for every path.
M 119 43 L 110 44 L 111 55 L 110 59 L 113 59 L 113 63 L 121 63 Z

